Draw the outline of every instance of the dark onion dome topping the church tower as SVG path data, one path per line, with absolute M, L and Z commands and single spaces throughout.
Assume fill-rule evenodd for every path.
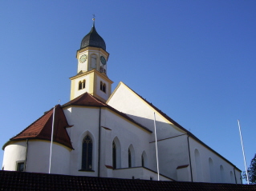
M 102 48 L 103 50 L 106 51 L 106 44 L 104 42 L 104 39 L 100 37 L 100 35 L 97 33 L 95 30 L 95 22 L 93 20 L 93 26 L 91 28 L 91 31 L 85 35 L 81 42 L 81 49 L 91 46 L 91 47 L 98 47 Z

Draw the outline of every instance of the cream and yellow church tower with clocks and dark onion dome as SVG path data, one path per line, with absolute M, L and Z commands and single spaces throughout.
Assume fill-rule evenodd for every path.
M 112 81 L 108 78 L 108 52 L 104 39 L 95 30 L 95 18 L 91 31 L 85 35 L 77 50 L 77 74 L 71 77 L 71 100 L 87 92 L 101 101 L 111 95 Z

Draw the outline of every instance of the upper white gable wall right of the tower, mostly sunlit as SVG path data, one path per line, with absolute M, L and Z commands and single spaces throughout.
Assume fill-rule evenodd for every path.
M 135 121 L 138 121 L 154 132 L 154 110 L 123 83 L 112 94 L 112 97 L 108 100 L 108 105 L 123 113 L 128 113 L 129 117 L 132 117 Z M 182 133 L 185 132 L 177 129 L 174 125 L 170 125 L 163 117 L 156 113 L 156 134 L 158 140 L 181 135 Z M 151 141 L 154 141 L 154 139 L 155 137 L 152 135 Z

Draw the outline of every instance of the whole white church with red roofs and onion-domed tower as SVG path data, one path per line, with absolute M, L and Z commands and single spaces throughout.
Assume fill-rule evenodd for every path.
M 76 53 L 70 101 L 2 146 L 2 170 L 242 184 L 240 169 L 124 82 L 112 92 L 108 57 L 93 21 Z

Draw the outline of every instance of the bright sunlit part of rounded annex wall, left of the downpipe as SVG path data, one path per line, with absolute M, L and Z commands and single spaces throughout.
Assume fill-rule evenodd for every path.
M 2 166 L 5 170 L 16 170 L 17 161 L 25 161 L 26 141 L 17 141 L 7 145 L 3 153 Z

